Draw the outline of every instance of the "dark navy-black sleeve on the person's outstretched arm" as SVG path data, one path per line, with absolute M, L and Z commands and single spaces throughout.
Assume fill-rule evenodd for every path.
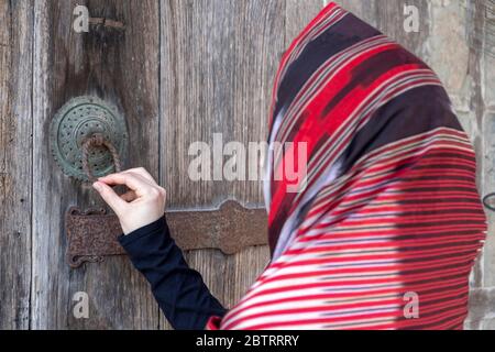
M 165 217 L 119 242 L 150 282 L 153 295 L 174 329 L 202 330 L 226 309 L 211 295 L 201 275 L 191 270 L 169 234 Z

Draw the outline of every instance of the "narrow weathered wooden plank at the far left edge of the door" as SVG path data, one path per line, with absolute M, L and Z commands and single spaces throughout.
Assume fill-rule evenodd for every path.
M 0 0 L 0 330 L 30 324 L 32 33 L 29 4 Z

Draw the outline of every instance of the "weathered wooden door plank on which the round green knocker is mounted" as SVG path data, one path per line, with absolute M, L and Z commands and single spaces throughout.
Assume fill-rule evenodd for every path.
M 73 31 L 73 10 L 122 21 L 125 31 Z M 70 270 L 63 215 L 69 206 L 101 205 L 87 185 L 62 175 L 48 148 L 48 127 L 68 99 L 96 95 L 124 113 L 127 166 L 158 176 L 158 3 L 36 1 L 34 42 L 34 209 L 32 327 L 35 329 L 155 329 L 158 309 L 148 285 L 127 257 Z M 89 297 L 89 318 L 73 316 L 73 295 Z

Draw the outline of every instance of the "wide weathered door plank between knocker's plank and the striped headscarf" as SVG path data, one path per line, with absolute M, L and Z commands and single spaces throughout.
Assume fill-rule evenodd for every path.
M 263 142 L 273 78 L 285 50 L 285 1 L 162 1 L 162 184 L 170 208 L 234 198 L 262 205 L 260 182 L 193 182 L 189 145 Z M 216 162 L 222 162 L 217 160 Z M 180 234 L 176 234 L 180 235 Z M 212 293 L 232 306 L 268 260 L 266 248 L 187 254 Z M 165 322 L 164 327 L 168 327 Z

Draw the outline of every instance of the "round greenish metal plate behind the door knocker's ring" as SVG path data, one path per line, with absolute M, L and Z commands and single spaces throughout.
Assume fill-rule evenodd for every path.
M 55 114 L 51 125 L 51 150 L 63 173 L 88 182 L 82 169 L 81 145 L 94 134 L 100 133 L 110 141 L 125 160 L 129 133 L 125 119 L 118 109 L 97 97 L 77 97 L 65 103 Z M 114 170 L 113 158 L 106 147 L 95 147 L 89 165 L 96 177 Z

